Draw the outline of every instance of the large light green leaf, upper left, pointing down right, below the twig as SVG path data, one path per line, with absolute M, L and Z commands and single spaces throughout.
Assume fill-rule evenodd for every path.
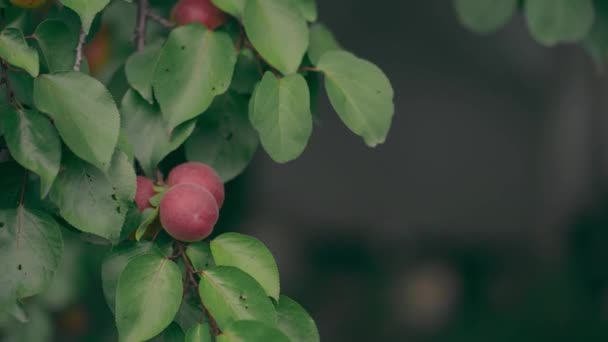
M 51 116 L 77 156 L 107 170 L 118 141 L 120 115 L 103 84 L 74 71 L 41 75 L 34 81 L 34 102 Z

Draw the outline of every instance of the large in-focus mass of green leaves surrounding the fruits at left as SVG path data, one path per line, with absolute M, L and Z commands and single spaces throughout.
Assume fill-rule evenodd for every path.
M 0 313 L 26 317 L 21 301 L 48 286 L 69 229 L 112 246 L 103 285 L 121 340 L 319 339 L 306 311 L 280 296 L 266 247 L 237 234 L 170 240 L 137 210 L 136 174 L 153 177 L 177 149 L 224 181 L 259 142 L 277 162 L 297 158 L 320 76 L 342 121 L 373 147 L 388 134 L 393 90 L 316 22 L 314 0 L 213 3 L 231 15 L 215 31 L 174 27 L 166 4 L 148 0 L 62 0 L 41 11 L 0 0 L 0 148 L 10 152 L 0 154 Z M 96 79 L 83 46 L 112 6 L 133 13 L 120 25 L 136 42 L 112 77 Z M 112 89 L 117 77 L 125 89 Z

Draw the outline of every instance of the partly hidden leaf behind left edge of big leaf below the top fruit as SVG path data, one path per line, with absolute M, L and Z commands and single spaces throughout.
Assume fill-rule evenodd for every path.
M 154 103 L 152 78 L 161 46 L 161 44 L 150 44 L 143 51 L 132 54 L 125 64 L 129 84 L 150 104 Z

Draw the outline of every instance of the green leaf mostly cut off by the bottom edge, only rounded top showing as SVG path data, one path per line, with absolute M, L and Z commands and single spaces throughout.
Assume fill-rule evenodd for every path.
M 217 342 L 296 342 L 262 322 L 244 320 L 234 322 L 216 338 Z

